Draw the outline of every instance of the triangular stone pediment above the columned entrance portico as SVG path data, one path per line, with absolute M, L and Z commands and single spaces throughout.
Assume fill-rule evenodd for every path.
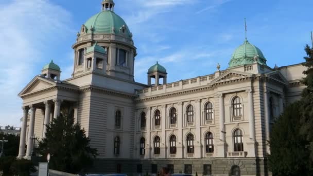
M 49 87 L 56 86 L 56 83 L 52 80 L 48 80 L 39 76 L 34 77 L 26 87 L 20 92 L 19 96 L 25 94 L 48 89 Z

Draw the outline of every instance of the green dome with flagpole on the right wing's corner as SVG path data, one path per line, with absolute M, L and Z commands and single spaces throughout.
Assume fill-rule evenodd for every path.
M 252 64 L 258 62 L 261 65 L 266 65 L 266 59 L 262 51 L 250 44 L 246 39 L 244 44 L 240 45 L 233 53 L 229 67 Z

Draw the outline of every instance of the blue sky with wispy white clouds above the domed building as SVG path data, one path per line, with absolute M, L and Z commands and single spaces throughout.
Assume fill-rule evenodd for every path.
M 0 0 L 0 126 L 19 126 L 17 94 L 51 59 L 72 72 L 76 33 L 100 11 L 101 0 Z M 311 43 L 313 1 L 303 0 L 115 0 L 137 47 L 135 80 L 146 83 L 156 61 L 168 82 L 212 74 L 228 67 L 245 39 L 259 47 L 273 67 L 303 62 Z

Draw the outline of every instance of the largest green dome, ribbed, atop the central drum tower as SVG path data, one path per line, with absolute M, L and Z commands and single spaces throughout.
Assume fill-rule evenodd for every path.
M 126 34 L 128 37 L 132 37 L 125 21 L 111 10 L 103 10 L 97 13 L 86 21 L 84 26 L 86 28 L 86 33 L 91 33 L 93 31 L 93 33 Z M 124 33 L 123 27 L 125 28 Z

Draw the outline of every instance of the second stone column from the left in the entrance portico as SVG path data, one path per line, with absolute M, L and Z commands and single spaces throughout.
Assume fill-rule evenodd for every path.
M 26 157 L 30 159 L 31 152 L 33 148 L 33 131 L 34 131 L 34 123 L 35 123 L 35 113 L 36 108 L 33 105 L 30 105 L 30 120 L 29 120 L 29 128 L 28 128 L 28 141 L 27 141 L 27 149 L 26 149 Z

